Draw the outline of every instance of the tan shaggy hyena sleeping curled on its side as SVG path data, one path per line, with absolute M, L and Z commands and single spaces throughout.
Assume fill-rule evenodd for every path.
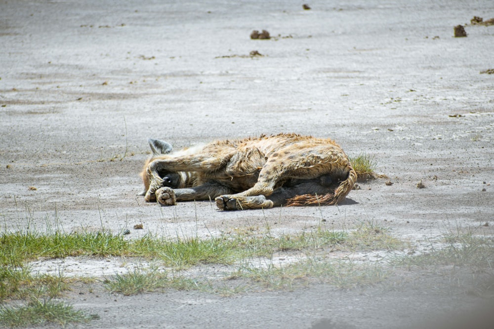
M 334 205 L 357 180 L 348 156 L 330 139 L 262 135 L 179 151 L 148 142 L 153 156 L 141 173 L 141 195 L 165 206 L 211 199 L 221 210 Z

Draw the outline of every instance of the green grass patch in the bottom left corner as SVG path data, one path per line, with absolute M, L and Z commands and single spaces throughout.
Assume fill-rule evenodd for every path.
M 32 299 L 25 306 L 0 307 L 0 324 L 4 327 L 28 327 L 53 323 L 66 326 L 69 323 L 87 322 L 98 318 L 75 310 L 71 305 L 52 299 Z

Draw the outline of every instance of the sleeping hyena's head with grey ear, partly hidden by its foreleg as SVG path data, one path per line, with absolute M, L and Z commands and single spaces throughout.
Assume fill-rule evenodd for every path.
M 164 157 L 164 155 L 170 153 L 173 150 L 173 146 L 164 141 L 148 139 L 149 146 L 151 146 L 151 151 L 153 155 L 149 158 L 144 164 L 144 168 L 141 172 L 142 182 L 144 183 L 144 190 L 139 195 L 146 195 L 146 192 L 151 185 L 151 178 L 148 172 L 148 165 L 155 159 Z M 160 187 L 168 186 L 171 188 L 176 188 L 180 186 L 182 178 L 179 173 L 174 172 L 166 172 L 166 171 L 158 171 L 158 175 L 163 180 L 160 183 Z M 152 200 L 148 200 L 152 201 Z

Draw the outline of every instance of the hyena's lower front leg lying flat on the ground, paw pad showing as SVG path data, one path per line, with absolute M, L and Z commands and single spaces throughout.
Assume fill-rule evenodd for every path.
M 206 201 L 226 193 L 232 193 L 232 190 L 216 183 L 207 183 L 190 188 L 161 187 L 156 190 L 156 200 L 162 206 L 173 206 L 176 205 L 177 201 Z

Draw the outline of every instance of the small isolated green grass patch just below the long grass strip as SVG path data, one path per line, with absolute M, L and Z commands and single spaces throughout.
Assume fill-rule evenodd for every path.
M 122 293 L 126 296 L 140 292 L 154 292 L 157 290 L 201 290 L 206 286 L 193 279 L 183 277 L 169 277 L 166 272 L 157 268 L 134 268 L 126 274 L 117 274 L 111 280 L 105 280 L 105 288 L 110 292 Z

